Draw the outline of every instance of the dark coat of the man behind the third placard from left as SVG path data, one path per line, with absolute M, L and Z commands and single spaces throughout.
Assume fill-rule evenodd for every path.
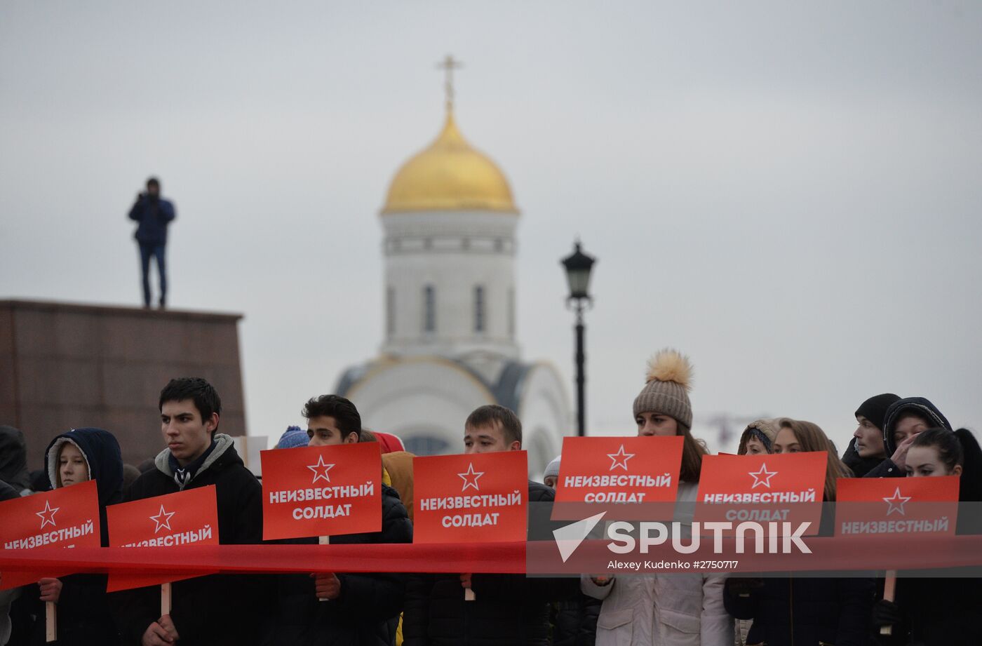
M 316 543 L 316 538 L 285 541 Z M 411 543 L 412 524 L 396 490 L 382 486 L 382 531 L 332 536 L 335 545 Z M 403 611 L 406 575 L 339 573 L 341 596 L 320 601 L 309 574 L 277 576 L 274 617 L 264 646 L 391 646 Z

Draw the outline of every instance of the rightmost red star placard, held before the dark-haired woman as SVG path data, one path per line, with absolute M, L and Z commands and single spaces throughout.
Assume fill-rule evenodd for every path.
M 839 478 L 836 534 L 955 535 L 956 475 Z

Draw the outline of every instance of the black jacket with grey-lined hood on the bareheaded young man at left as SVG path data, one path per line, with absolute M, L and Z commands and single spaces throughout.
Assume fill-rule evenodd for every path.
M 128 500 L 180 491 L 169 457 L 169 450 L 160 452 L 155 468 L 136 478 Z M 228 435 L 215 435 L 214 450 L 184 489 L 208 485 L 216 489 L 219 543 L 261 542 L 261 487 Z M 173 583 L 171 619 L 181 635 L 181 646 L 239 646 L 258 641 L 259 618 L 268 604 L 263 590 L 261 577 L 245 574 L 213 574 Z M 147 626 L 160 618 L 158 586 L 114 593 L 111 602 L 126 644 L 138 644 Z

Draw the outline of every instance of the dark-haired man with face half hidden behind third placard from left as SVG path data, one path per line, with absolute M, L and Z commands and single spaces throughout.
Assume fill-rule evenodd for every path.
M 303 406 L 307 446 L 356 444 L 361 415 L 337 395 L 321 395 Z M 412 524 L 399 494 L 381 484 L 382 529 L 331 537 L 331 544 L 411 543 Z M 282 541 L 294 545 L 316 538 Z M 275 617 L 262 640 L 268 646 L 390 646 L 395 641 L 406 591 L 404 574 L 382 572 L 281 574 Z M 324 603 L 320 603 L 323 601 Z

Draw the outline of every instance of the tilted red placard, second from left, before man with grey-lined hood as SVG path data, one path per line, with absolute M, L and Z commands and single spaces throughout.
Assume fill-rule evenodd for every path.
M 106 522 L 111 547 L 154 547 L 166 554 L 182 545 L 218 545 L 215 485 L 110 505 L 106 508 Z M 159 585 L 184 578 L 191 577 L 110 574 L 106 591 Z

